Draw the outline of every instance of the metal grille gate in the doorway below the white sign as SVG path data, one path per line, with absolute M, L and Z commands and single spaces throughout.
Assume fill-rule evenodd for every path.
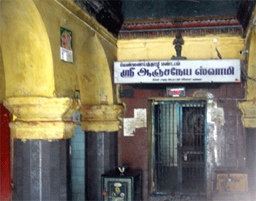
M 153 118 L 155 192 L 206 194 L 206 102 L 154 102 Z

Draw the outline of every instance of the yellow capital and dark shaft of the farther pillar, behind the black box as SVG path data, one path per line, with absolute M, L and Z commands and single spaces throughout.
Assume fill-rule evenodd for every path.
M 115 170 L 118 160 L 121 105 L 81 106 L 86 131 L 86 200 L 101 200 L 101 175 Z

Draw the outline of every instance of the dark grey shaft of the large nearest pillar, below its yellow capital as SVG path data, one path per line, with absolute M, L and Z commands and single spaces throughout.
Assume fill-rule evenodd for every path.
M 12 200 L 70 200 L 69 139 L 13 139 Z

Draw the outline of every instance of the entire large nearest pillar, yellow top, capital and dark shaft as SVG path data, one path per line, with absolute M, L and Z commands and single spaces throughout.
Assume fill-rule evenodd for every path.
M 50 40 L 34 1 L 0 1 L 4 106 L 13 114 L 13 199 L 70 200 L 69 117 L 80 101 L 56 98 Z

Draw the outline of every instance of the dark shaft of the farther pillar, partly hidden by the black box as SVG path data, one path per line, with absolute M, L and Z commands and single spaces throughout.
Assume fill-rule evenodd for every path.
M 101 200 L 101 176 L 115 170 L 117 132 L 86 132 L 86 200 Z

